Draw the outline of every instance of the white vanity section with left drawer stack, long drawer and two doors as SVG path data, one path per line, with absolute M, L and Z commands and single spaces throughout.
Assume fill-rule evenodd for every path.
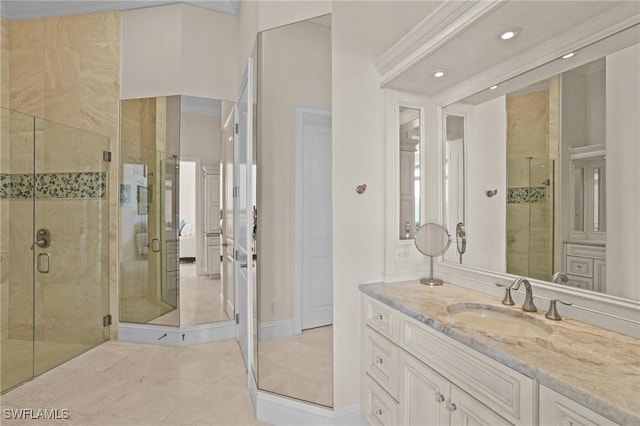
M 534 424 L 533 380 L 368 296 L 363 312 L 370 424 Z

